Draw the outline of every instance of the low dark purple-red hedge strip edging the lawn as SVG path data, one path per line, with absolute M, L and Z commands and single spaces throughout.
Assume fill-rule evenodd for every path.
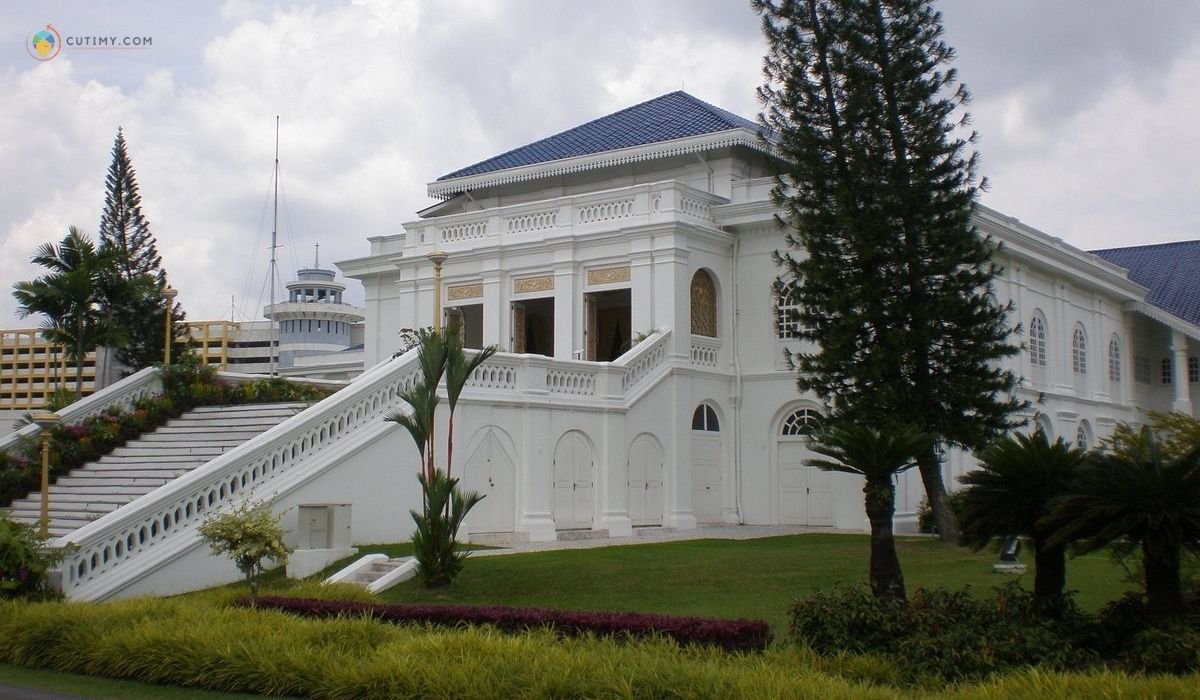
M 715 646 L 730 652 L 761 652 L 770 644 L 770 626 L 758 620 L 714 620 L 637 612 L 580 612 L 475 605 L 400 605 L 317 600 L 312 598 L 241 598 L 238 605 L 293 612 L 306 617 L 362 616 L 382 622 L 438 627 L 488 624 L 504 632 L 551 629 L 565 636 L 655 636 L 680 645 Z

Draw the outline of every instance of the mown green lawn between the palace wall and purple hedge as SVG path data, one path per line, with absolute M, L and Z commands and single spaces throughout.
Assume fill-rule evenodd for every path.
M 972 586 L 980 594 L 1013 579 L 995 574 L 996 555 L 930 538 L 898 542 L 910 590 Z M 856 534 L 799 534 L 750 540 L 702 539 L 473 557 L 454 586 L 430 591 L 406 581 L 382 598 L 395 603 L 462 603 L 749 617 L 787 628 L 793 600 L 835 584 L 866 582 L 869 542 Z M 1068 586 L 1096 611 L 1130 586 L 1105 556 L 1073 560 Z M 1032 567 L 1020 578 L 1033 585 Z

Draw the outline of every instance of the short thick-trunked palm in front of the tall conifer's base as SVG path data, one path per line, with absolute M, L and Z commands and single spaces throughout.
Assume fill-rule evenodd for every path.
M 869 427 L 838 425 L 818 429 L 814 451 L 828 460 L 805 460 L 812 467 L 865 477 L 866 517 L 871 521 L 871 591 L 876 598 L 905 600 L 904 573 L 896 556 L 892 516 L 895 514 L 895 477 L 917 466 L 917 455 L 932 438 L 910 425 Z

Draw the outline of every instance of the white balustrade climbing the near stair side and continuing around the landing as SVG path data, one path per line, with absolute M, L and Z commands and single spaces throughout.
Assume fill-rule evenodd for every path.
M 630 389 L 666 361 L 667 337 L 667 331 L 656 331 L 613 363 L 499 354 L 476 369 L 467 387 L 526 394 L 534 401 L 546 401 L 547 394 L 589 402 L 625 401 Z M 130 581 L 136 579 L 144 568 L 133 563 L 139 556 L 152 557 L 160 551 L 166 557 L 175 551 L 169 542 L 194 543 L 194 531 L 208 513 L 252 492 L 269 497 L 265 495 L 292 483 L 280 485 L 278 479 L 288 474 L 300 478 L 308 465 L 323 468 L 328 462 L 320 459 L 323 450 L 359 429 L 380 425 L 385 415 L 404 406 L 401 394 L 420 377 L 416 349 L 412 349 L 368 370 L 307 411 L 65 536 L 60 543 L 73 545 L 62 562 L 65 593 L 104 597 L 124 585 L 122 568 L 127 567 Z M 188 533 L 191 540 L 173 539 Z M 148 566 L 156 561 L 150 560 Z

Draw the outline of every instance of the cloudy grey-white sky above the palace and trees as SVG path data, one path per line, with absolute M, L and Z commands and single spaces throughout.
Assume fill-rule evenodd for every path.
M 1200 238 L 1200 2 L 944 0 L 983 202 L 1097 249 Z M 52 24 L 73 43 L 26 49 Z M 752 118 L 740 0 L 8 0 L 0 5 L 0 327 L 68 225 L 95 233 L 116 128 L 193 319 L 266 301 L 275 116 L 284 280 L 366 255 L 458 167 L 683 88 Z M 350 281 L 350 298 L 361 291 Z

